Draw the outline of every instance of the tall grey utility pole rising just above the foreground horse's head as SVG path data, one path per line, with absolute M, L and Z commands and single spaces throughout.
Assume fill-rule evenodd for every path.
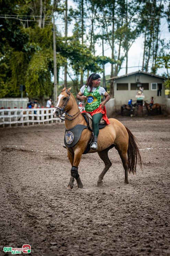
M 53 55 L 54 55 L 54 105 L 57 105 L 57 64 L 56 64 L 56 31 L 53 16 Z

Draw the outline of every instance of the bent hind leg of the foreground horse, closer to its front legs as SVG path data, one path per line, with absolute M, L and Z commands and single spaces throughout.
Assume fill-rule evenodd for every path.
M 104 167 L 102 173 L 99 175 L 97 186 L 101 186 L 103 184 L 102 179 L 103 179 L 104 175 L 106 174 L 106 172 L 109 170 L 109 168 L 112 165 L 112 163 L 111 163 L 111 161 L 108 157 L 109 149 L 106 148 L 105 150 L 102 150 L 102 151 L 98 152 L 98 155 L 103 160 L 105 167 Z

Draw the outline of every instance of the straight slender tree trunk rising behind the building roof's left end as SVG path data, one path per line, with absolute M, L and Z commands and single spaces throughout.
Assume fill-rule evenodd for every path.
M 114 59 L 114 9 L 115 9 L 115 0 L 113 0 L 113 21 L 112 21 L 112 59 Z M 113 77 L 113 64 L 111 64 L 111 78 Z M 113 79 L 110 80 L 110 96 L 114 97 L 114 88 L 113 88 Z

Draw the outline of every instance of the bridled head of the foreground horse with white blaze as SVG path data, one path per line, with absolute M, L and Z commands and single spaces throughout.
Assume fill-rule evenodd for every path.
M 54 111 L 53 111 L 53 115 L 54 117 L 59 117 L 61 114 L 62 110 L 69 110 L 71 107 L 69 99 L 70 99 L 70 90 L 71 87 L 69 89 L 66 89 L 66 87 L 64 87 L 64 89 L 61 91 L 60 95 L 57 97 L 57 106 L 55 107 Z

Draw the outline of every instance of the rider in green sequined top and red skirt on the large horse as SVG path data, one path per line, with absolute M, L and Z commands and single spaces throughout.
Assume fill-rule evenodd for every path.
M 99 135 L 99 122 L 101 118 L 105 120 L 106 124 L 109 125 L 109 119 L 106 116 L 106 108 L 105 104 L 110 99 L 109 94 L 105 91 L 103 87 L 100 87 L 101 77 L 92 73 L 86 85 L 82 86 L 78 95 L 78 100 L 87 100 L 87 104 L 85 106 L 85 111 L 88 112 L 93 117 L 93 133 L 94 133 L 94 141 L 91 144 L 91 149 L 98 149 L 97 140 Z M 101 102 L 101 95 L 105 97 L 105 100 Z

